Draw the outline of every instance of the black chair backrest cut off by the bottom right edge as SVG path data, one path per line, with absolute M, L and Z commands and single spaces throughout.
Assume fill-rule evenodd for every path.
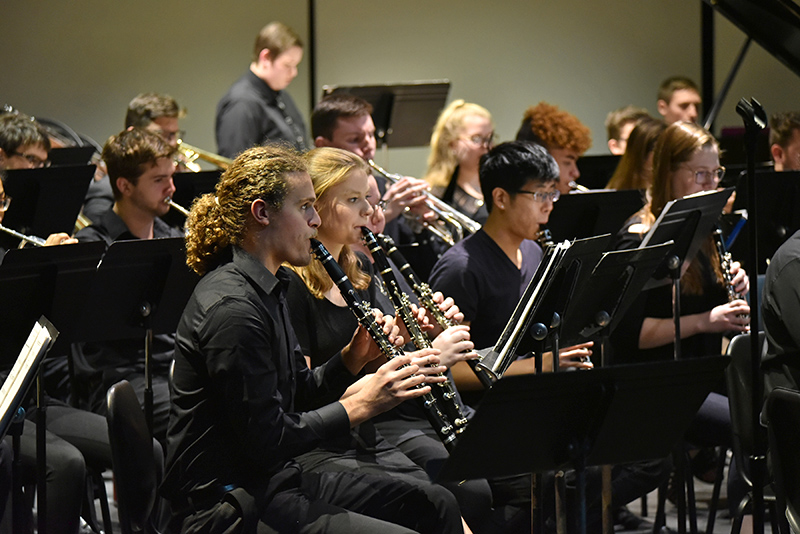
M 766 410 L 775 490 L 792 532 L 800 532 L 800 392 L 775 388 Z

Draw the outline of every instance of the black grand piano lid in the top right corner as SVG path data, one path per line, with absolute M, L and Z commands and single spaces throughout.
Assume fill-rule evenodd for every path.
M 705 0 L 800 76 L 800 7 L 792 0 Z

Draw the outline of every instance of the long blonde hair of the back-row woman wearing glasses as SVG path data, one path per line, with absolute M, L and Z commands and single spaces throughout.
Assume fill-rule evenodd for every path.
M 463 100 L 451 102 L 439 114 L 431 135 L 431 152 L 425 173 L 425 180 L 432 187 L 447 187 L 450 183 L 450 177 L 458 165 L 453 143 L 463 132 L 464 120 L 473 115 L 492 122 L 492 115 L 486 108 Z

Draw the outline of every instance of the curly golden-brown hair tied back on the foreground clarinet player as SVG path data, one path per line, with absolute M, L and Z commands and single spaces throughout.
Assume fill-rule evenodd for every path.
M 289 193 L 287 178 L 306 172 L 295 150 L 283 145 L 254 147 L 239 154 L 215 192 L 192 204 L 186 221 L 186 264 L 203 275 L 220 265 L 231 245 L 241 246 L 250 206 L 261 199 L 280 211 Z

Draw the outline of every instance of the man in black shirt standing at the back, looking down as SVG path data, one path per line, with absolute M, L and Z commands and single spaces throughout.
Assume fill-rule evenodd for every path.
M 217 104 L 219 154 L 233 158 L 267 141 L 307 150 L 305 122 L 285 91 L 303 59 L 300 37 L 285 24 L 271 22 L 258 33 L 253 53 L 250 68 Z

